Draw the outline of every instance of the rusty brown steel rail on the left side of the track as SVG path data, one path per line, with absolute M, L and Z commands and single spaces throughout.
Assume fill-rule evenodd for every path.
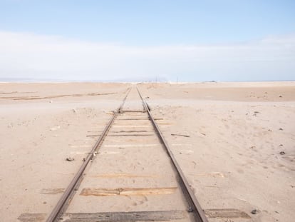
M 78 188 L 79 182 L 81 182 L 81 179 L 83 177 L 83 173 L 84 173 L 86 167 L 88 166 L 88 163 L 93 158 L 93 156 L 95 156 L 95 152 L 98 150 L 101 143 L 103 142 L 103 139 L 105 138 L 106 134 L 110 130 L 110 127 L 112 126 L 113 122 L 115 121 L 115 118 L 118 116 L 120 111 L 122 111 L 123 105 L 125 103 L 125 100 L 126 100 L 128 94 L 129 94 L 129 92 L 130 92 L 130 88 L 126 92 L 126 96 L 123 99 L 122 104 L 113 113 L 113 116 L 110 118 L 110 121 L 108 121 L 108 125 L 105 126 L 103 132 L 100 134 L 100 138 L 98 138 L 98 141 L 96 141 L 95 145 L 93 146 L 90 153 L 88 154 L 86 160 L 83 162 L 83 164 L 79 168 L 78 172 L 76 173 L 76 175 L 72 179 L 71 183 L 66 188 L 66 191 L 63 193 L 63 196 L 61 196 L 58 203 L 56 203 L 56 206 L 53 208 L 53 211 L 51 211 L 50 215 L 46 219 L 46 222 L 58 221 L 59 216 L 61 216 L 61 214 L 64 211 L 66 211 L 66 203 L 68 203 L 68 201 L 71 199 L 71 197 L 73 195 L 73 192 L 76 191 L 76 189 Z

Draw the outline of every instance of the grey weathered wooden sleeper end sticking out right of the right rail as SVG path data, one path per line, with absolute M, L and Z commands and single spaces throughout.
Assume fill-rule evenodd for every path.
M 207 209 L 205 210 L 207 218 L 251 218 L 244 211 L 237 209 L 227 208 L 227 209 Z

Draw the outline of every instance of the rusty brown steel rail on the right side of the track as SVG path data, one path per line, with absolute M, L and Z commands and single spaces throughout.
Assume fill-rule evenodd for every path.
M 138 88 L 136 88 L 138 90 Z M 177 172 L 177 176 L 180 178 L 179 183 L 180 187 L 182 188 L 182 192 L 185 194 L 185 198 L 187 199 L 189 208 L 187 209 L 188 212 L 194 213 L 195 221 L 197 222 L 208 222 L 207 217 L 205 216 L 204 211 L 202 210 L 202 207 L 200 206 L 200 203 L 197 201 L 197 198 L 195 197 L 195 194 L 193 193 L 192 189 L 190 188 L 190 184 L 187 182 L 187 179 L 185 178 L 185 174 L 182 172 L 179 164 L 177 163 L 172 151 L 170 150 L 167 141 L 165 140 L 164 136 L 162 135 L 162 132 L 160 131 L 159 126 L 157 126 L 157 123 L 155 122 L 155 119 L 152 117 L 152 113 L 150 113 L 150 106 L 148 106 L 147 102 L 143 99 L 143 96 L 141 96 L 140 91 L 138 90 L 138 94 L 140 96 L 140 99 L 143 101 L 143 107 L 145 111 L 148 112 L 148 116 L 150 118 L 150 121 L 152 121 L 152 126 L 154 126 L 155 131 L 160 138 L 160 141 L 162 141 L 165 150 L 167 151 L 168 156 L 170 157 L 170 160 L 172 161 L 172 165 L 175 167 L 175 170 Z

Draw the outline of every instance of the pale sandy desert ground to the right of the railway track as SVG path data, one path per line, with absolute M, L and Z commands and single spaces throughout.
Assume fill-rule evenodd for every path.
M 204 208 L 238 208 L 253 221 L 294 221 L 294 83 L 140 89 L 163 118 L 157 122 Z M 177 133 L 190 137 L 171 135 Z

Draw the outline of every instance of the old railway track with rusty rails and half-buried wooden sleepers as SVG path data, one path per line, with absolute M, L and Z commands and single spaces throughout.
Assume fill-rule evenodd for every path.
M 128 90 L 46 221 L 207 221 L 137 88 Z

